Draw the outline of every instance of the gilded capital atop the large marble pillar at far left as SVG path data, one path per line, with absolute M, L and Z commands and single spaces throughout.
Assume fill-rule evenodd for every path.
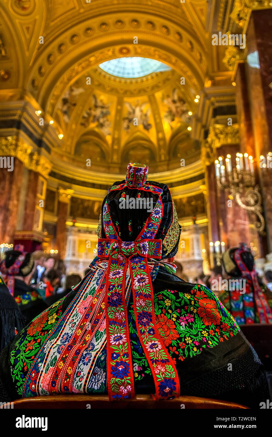
M 33 147 L 16 136 L 0 138 L 0 155 L 18 158 L 28 170 L 33 170 L 47 178 L 52 169 L 52 164 L 43 155 L 32 152 Z

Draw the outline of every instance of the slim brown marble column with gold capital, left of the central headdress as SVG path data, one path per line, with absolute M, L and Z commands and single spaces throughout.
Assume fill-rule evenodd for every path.
M 72 190 L 64 190 L 59 188 L 58 194 L 58 208 L 57 208 L 57 223 L 56 223 L 56 249 L 58 250 L 59 257 L 63 259 L 65 257 L 66 249 L 66 221 L 69 209 L 69 201 L 71 198 Z

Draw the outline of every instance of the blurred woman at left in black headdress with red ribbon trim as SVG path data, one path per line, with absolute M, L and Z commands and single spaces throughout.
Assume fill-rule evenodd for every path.
M 47 308 L 37 291 L 29 285 L 34 267 L 34 258 L 31 253 L 24 252 L 22 245 L 7 250 L 5 258 L 0 262 L 3 281 L 17 302 L 26 324 Z

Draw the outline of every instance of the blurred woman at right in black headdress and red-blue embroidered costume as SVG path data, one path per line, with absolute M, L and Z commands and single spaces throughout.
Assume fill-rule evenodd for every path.
M 254 257 L 244 243 L 223 253 L 222 264 L 229 275 L 229 286 L 219 300 L 238 325 L 272 323 L 272 310 L 258 282 Z

